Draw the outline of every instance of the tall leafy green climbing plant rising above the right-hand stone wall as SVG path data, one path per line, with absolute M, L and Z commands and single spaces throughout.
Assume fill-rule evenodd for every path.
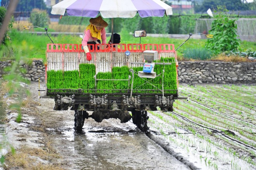
M 214 36 L 207 40 L 206 48 L 211 49 L 214 54 L 238 49 L 240 39 L 237 38 L 237 24 L 235 24 L 237 19 L 230 18 L 228 10 L 223 6 L 218 6 L 214 12 L 215 20 L 213 20 L 209 31 Z

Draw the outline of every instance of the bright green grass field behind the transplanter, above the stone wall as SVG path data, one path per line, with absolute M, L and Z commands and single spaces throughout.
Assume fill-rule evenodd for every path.
M 42 30 L 42 29 L 41 29 Z M 43 31 L 43 30 L 42 30 Z M 48 31 L 49 36 L 52 41 L 56 44 L 81 44 L 81 38 L 79 36 L 74 35 L 59 35 L 54 37 L 51 35 L 51 31 Z M 121 43 L 123 44 L 138 44 L 140 42 L 139 38 L 135 38 L 133 34 L 129 34 L 128 32 L 120 32 Z M 189 37 L 189 35 L 188 35 Z M 52 43 L 47 36 L 47 34 L 42 34 L 40 36 L 36 34 L 20 33 L 16 30 L 12 30 L 10 32 L 10 38 L 12 39 L 12 45 L 14 48 L 14 55 L 21 53 L 25 58 L 36 58 L 36 59 L 45 59 L 45 51 L 47 49 L 47 44 Z M 107 40 L 110 37 L 107 37 Z M 171 39 L 168 37 L 142 37 L 141 44 L 174 44 L 175 49 L 182 44 L 186 39 Z M 181 48 L 177 50 L 178 56 L 183 56 L 183 53 L 188 48 L 202 48 L 206 39 L 189 39 Z M 19 51 L 20 47 L 26 47 L 28 50 L 22 49 Z M 246 51 L 246 49 L 256 49 L 256 42 L 248 42 L 242 41 L 240 45 L 241 51 Z

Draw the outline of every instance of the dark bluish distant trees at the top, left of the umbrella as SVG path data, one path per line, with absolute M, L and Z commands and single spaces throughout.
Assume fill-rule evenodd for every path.
M 8 5 L 10 0 L 2 0 L 1 6 Z M 28 12 L 33 8 L 45 10 L 46 4 L 43 0 L 19 0 L 16 11 Z

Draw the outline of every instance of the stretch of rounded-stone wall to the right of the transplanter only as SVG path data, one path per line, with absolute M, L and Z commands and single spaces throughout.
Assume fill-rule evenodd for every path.
M 256 62 L 179 62 L 180 83 L 256 83 Z

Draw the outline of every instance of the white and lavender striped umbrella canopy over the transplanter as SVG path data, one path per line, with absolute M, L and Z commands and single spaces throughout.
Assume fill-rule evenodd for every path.
M 161 0 L 63 0 L 52 6 L 51 14 L 95 18 L 163 17 L 172 7 Z

